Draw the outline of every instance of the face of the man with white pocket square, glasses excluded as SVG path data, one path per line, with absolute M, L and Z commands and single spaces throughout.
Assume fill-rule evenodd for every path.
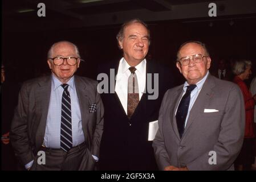
M 197 43 L 185 44 L 179 52 L 179 59 L 181 57 L 192 56 L 196 54 L 205 55 L 205 49 Z M 179 62 L 176 63 L 177 68 L 180 70 L 182 75 L 186 78 L 188 84 L 196 84 L 198 81 L 202 80 L 206 75 L 208 69 L 210 68 L 210 57 L 204 57 L 201 63 L 194 63 L 190 57 L 189 64 L 182 66 Z

